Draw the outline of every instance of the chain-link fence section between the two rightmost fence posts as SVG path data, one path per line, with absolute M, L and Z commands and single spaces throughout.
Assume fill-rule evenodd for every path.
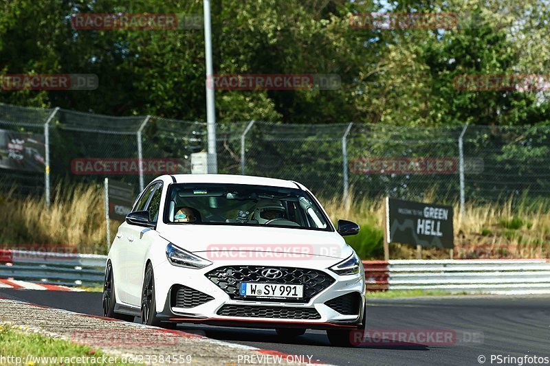
M 456 201 L 460 196 L 462 130 L 463 126 L 354 124 L 348 155 L 355 194 L 420 201 L 430 194 L 439 201 Z

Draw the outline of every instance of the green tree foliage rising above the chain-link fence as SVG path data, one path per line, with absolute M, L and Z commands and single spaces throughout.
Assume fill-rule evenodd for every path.
M 217 91 L 221 121 L 406 126 L 545 124 L 547 92 L 459 91 L 462 74 L 544 73 L 545 0 L 212 1 L 214 73 L 336 73 L 337 90 Z M 95 91 L 0 91 L 0 102 L 204 120 L 202 30 L 74 30 L 72 14 L 201 14 L 201 0 L 5 0 L 0 70 L 95 73 Z M 362 12 L 452 12 L 457 27 L 355 29 Z

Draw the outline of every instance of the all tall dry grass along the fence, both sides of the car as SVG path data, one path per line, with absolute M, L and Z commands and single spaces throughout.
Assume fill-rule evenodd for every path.
M 102 187 L 58 185 L 48 209 L 39 198 L 0 195 L 0 247 L 59 244 L 81 253 L 106 253 Z M 428 192 L 426 202 L 436 202 Z M 346 237 L 364 259 L 383 258 L 384 201 L 351 196 L 346 207 L 338 198 L 322 200 L 336 222 L 358 222 L 358 236 Z M 501 205 L 469 203 L 465 216 L 454 205 L 454 258 L 549 258 L 550 200 L 509 199 Z M 111 220 L 111 238 L 119 222 Z M 391 244 L 391 258 L 415 258 L 416 249 Z M 448 258 L 443 249 L 424 249 L 424 258 Z

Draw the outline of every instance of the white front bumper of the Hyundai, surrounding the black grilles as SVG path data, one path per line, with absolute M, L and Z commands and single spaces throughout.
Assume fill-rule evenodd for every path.
M 322 271 L 334 280 L 327 288 L 316 293 L 307 302 L 298 303 L 285 300 L 243 300 L 230 296 L 226 290 L 214 284 L 206 276 L 207 273 L 212 273 L 212 271 L 228 265 L 234 266 L 235 263 L 216 263 L 199 270 L 173 266 L 169 262 L 159 264 L 155 268 L 157 317 L 161 321 L 170 323 L 203 323 L 246 328 L 353 329 L 363 322 L 365 316 L 363 314 L 365 302 L 363 271 L 360 271 L 358 275 L 339 276 L 326 267 L 320 268 L 322 265 L 311 266 L 311 261 L 293 263 L 294 268 Z M 239 263 L 239 266 L 257 265 L 257 262 L 254 264 Z M 282 267 L 280 262 L 263 263 L 262 266 Z M 160 275 L 161 273 L 162 275 Z M 197 306 L 193 301 L 187 301 L 186 307 L 175 306 L 173 291 L 177 291 L 178 285 L 199 291 L 199 293 L 192 293 L 193 296 L 190 298 L 203 297 L 208 301 Z M 341 314 L 334 309 L 335 306 L 331 308 L 325 304 L 327 301 L 351 293 L 355 294 L 355 298 L 358 299 L 357 311 L 354 314 Z M 200 303 L 201 301 L 195 302 Z M 341 308 L 340 311 L 342 311 Z M 233 314 L 239 314 L 239 316 L 232 316 Z

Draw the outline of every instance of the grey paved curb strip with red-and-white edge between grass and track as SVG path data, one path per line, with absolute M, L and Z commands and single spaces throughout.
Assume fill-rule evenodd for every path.
M 142 356 L 146 365 L 163 365 L 162 354 L 187 354 L 194 365 L 326 365 L 313 354 L 293 355 L 210 339 L 179 330 L 96 317 L 24 301 L 0 299 L 0 324 L 65 339 L 112 356 Z M 242 358 L 242 360 L 241 360 Z M 137 358 L 139 359 L 139 358 Z

